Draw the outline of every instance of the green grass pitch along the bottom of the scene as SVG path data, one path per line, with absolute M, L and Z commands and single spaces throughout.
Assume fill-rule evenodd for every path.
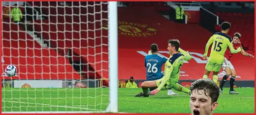
M 214 113 L 254 113 L 254 88 L 236 88 L 240 94 L 224 94 Z M 119 89 L 119 112 L 125 113 L 190 113 L 190 97 L 178 92 L 167 96 L 134 97 L 141 89 Z M 174 91 L 176 92 L 176 91 Z M 108 89 L 2 88 L 2 112 L 105 111 Z

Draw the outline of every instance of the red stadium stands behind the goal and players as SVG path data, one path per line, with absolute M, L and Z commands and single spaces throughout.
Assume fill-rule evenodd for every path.
M 8 64 L 19 66 L 18 76 L 13 77 L 17 85 L 9 81 L 10 77 L 2 76 L 3 87 L 26 87 L 22 80 L 27 79 L 31 87 L 75 87 L 81 79 L 87 87 L 108 86 L 108 28 L 107 20 L 102 20 L 107 19 L 106 2 L 102 6 L 88 2 L 92 5 L 88 8 L 78 7 L 78 2 L 73 2 L 73 8 L 63 7 L 63 2 L 19 2 L 20 6 L 28 6 L 21 7 L 27 24 L 20 26 L 9 23 L 11 3 L 3 2 L 2 7 L 2 70 Z M 72 2 L 66 3 L 70 6 Z M 120 87 L 130 76 L 140 86 L 146 79 L 144 57 L 150 45 L 158 44 L 161 56 L 168 57 L 168 39 L 179 39 L 181 47 L 193 56 L 181 68 L 181 85 L 189 86 L 202 78 L 205 44 L 214 32 L 220 31 L 218 24 L 224 21 L 231 23 L 228 35 L 240 32 L 244 49 L 254 55 L 254 2 L 182 2 L 187 18 L 184 23 L 175 23 L 175 7 L 175 2 L 119 2 Z M 255 60 L 238 53 L 232 57 L 232 64 L 237 72 L 235 86 L 254 87 Z M 218 76 L 221 80 L 223 69 Z M 36 86 L 35 80 L 45 83 Z M 48 80 L 56 80 L 58 85 L 53 86 Z

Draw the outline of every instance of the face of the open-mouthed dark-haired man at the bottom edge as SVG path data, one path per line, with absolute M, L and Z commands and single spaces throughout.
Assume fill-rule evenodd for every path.
M 209 95 L 208 93 L 206 93 Z M 218 103 L 212 104 L 210 96 L 206 96 L 204 90 L 194 90 L 191 93 L 190 110 L 192 115 L 212 115 Z

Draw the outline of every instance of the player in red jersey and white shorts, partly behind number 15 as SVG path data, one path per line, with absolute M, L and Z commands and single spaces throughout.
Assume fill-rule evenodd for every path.
M 233 47 L 235 49 L 237 49 L 238 47 L 241 46 L 240 43 L 240 38 L 241 38 L 241 34 L 240 33 L 235 33 L 234 37 L 233 37 L 233 41 L 231 42 Z M 244 56 L 250 56 L 251 58 L 254 58 L 253 55 L 247 53 L 244 51 L 244 49 L 241 50 L 241 53 Z M 233 56 L 233 54 L 230 52 L 230 49 L 228 48 L 225 52 L 224 55 L 224 63 L 222 65 L 224 71 L 226 72 L 226 74 L 224 75 L 224 77 L 222 78 L 222 82 L 220 85 L 220 92 L 223 93 L 223 86 L 225 84 L 226 79 L 229 77 L 229 75 L 232 75 L 232 77 L 230 78 L 230 90 L 229 90 L 229 94 L 239 94 L 238 92 L 234 91 L 233 87 L 234 87 L 234 82 L 235 82 L 235 77 L 236 77 L 236 71 L 233 67 L 233 65 L 231 64 L 231 57 Z

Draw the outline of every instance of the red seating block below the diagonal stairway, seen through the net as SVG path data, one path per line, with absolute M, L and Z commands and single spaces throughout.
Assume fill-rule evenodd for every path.
M 29 34 L 24 32 L 23 28 L 10 23 L 3 23 L 2 26 L 5 30 L 2 32 L 4 66 L 17 65 L 19 70 L 19 77 L 12 77 L 12 79 L 81 79 L 76 72 L 65 73 L 65 70 L 75 71 L 67 59 L 52 48 L 41 47 Z M 56 74 L 57 72 L 58 74 Z M 10 79 L 10 77 L 5 79 Z

